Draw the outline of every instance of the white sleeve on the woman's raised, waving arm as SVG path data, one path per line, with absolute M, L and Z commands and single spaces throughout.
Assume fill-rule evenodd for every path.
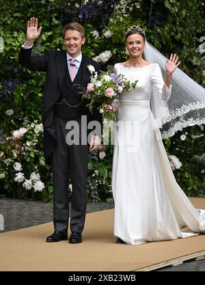
M 156 90 L 159 92 L 160 98 L 164 100 L 165 102 L 167 102 L 172 93 L 172 84 L 169 86 L 169 88 L 165 85 L 159 64 L 153 65 L 151 81 L 152 81 L 152 84 L 154 84 L 154 87 L 156 88 Z

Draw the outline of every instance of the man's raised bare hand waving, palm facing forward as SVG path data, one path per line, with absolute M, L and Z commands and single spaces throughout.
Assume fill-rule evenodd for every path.
M 27 23 L 27 41 L 25 46 L 31 46 L 33 42 L 40 36 L 42 27 L 38 29 L 38 18 L 30 18 Z

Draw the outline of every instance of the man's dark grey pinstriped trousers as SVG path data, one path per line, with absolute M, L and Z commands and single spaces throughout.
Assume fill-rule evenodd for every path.
M 69 217 L 68 178 L 72 182 L 72 199 L 70 208 L 71 232 L 82 232 L 85 223 L 87 204 L 87 154 L 88 145 L 66 144 L 66 123 L 68 120 L 54 118 L 57 147 L 53 153 L 53 223 L 54 229 L 67 232 Z M 81 137 L 81 122 L 80 137 Z M 86 130 L 85 130 L 86 131 Z

